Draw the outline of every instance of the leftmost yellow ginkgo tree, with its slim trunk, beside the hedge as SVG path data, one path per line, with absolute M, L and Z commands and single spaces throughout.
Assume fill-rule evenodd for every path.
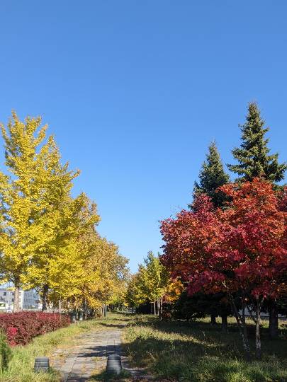
M 0 173 L 1 270 L 15 287 L 14 311 L 19 310 L 19 289 L 25 283 L 35 253 L 50 241 L 55 223 L 45 215 L 45 171 L 51 141 L 39 118 L 24 122 L 15 112 L 7 127 L 1 125 L 7 174 Z

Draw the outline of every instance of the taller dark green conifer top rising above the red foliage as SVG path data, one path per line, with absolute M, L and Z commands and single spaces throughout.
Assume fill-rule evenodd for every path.
M 269 139 L 264 137 L 269 127 L 264 127 L 264 123 L 257 103 L 249 103 L 246 122 L 241 126 L 242 144 L 232 150 L 239 163 L 227 165 L 233 173 L 240 175 L 239 180 L 264 178 L 279 182 L 284 178 L 287 165 L 278 163 L 278 154 L 269 155 Z

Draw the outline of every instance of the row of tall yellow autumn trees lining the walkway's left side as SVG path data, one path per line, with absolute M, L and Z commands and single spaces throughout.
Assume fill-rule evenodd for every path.
M 15 287 L 14 311 L 21 288 L 38 290 L 43 311 L 100 310 L 123 294 L 128 260 L 96 231 L 96 204 L 72 196 L 79 170 L 62 164 L 40 117 L 21 121 L 13 112 L 1 133 L 0 276 Z

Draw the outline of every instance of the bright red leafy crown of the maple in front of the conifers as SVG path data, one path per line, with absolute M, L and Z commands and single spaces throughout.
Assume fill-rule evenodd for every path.
M 162 221 L 162 262 L 189 282 L 191 294 L 244 289 L 276 296 L 287 272 L 286 190 L 278 197 L 270 183 L 255 179 L 220 188 L 230 197 L 215 209 L 206 195 L 194 212 Z

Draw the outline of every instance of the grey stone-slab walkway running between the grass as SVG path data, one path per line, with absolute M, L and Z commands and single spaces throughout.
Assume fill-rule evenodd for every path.
M 124 325 L 123 325 L 124 327 Z M 120 337 L 122 329 L 103 329 L 80 335 L 79 345 L 70 349 L 57 349 L 52 356 L 51 366 L 60 371 L 62 382 L 94 381 L 91 376 L 101 374 L 106 369 L 108 354 L 121 354 Z M 123 369 L 128 370 L 128 381 L 150 381 L 142 376 L 141 369 L 131 369 L 122 357 Z

